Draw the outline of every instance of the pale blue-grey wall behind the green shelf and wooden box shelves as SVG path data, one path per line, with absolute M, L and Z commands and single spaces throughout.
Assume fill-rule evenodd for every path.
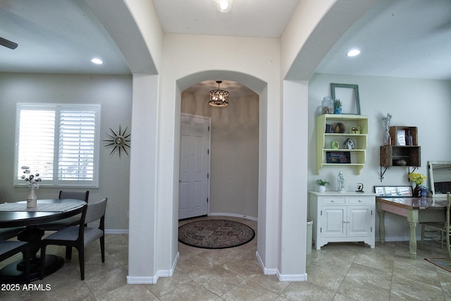
M 369 116 L 366 164 L 360 175 L 354 168 L 324 167 L 316 175 L 315 111 L 323 97 L 330 96 L 330 83 L 359 85 L 362 115 Z M 355 190 L 364 183 L 364 190 L 373 192 L 375 185 L 413 185 L 408 181 L 407 167 L 393 166 L 380 180 L 380 146 L 383 145 L 385 127 L 382 117 L 393 115 L 390 125 L 416 126 L 421 146 L 421 167 L 416 172 L 428 176 L 427 161 L 450 161 L 451 140 L 446 136 L 450 128 L 451 81 L 385 78 L 375 76 L 314 74 L 309 81 L 309 190 L 316 190 L 316 180 L 326 178 L 336 189 L 338 171 L 345 176 L 346 190 Z M 426 180 L 426 183 L 428 180 Z M 405 218 L 386 214 L 385 240 L 409 240 L 409 227 Z M 378 229 L 378 216 L 376 216 Z M 419 227 L 417 227 L 419 235 Z M 378 232 L 376 231 L 376 238 Z

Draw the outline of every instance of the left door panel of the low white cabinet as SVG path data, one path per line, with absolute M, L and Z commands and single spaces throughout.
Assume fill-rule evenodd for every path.
M 340 238 L 346 236 L 345 206 L 323 207 L 321 210 L 321 236 Z

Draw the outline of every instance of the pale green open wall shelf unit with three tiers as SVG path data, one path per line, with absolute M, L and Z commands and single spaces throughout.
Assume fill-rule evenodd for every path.
M 326 125 L 342 123 L 344 133 L 326 133 Z M 360 133 L 351 133 L 352 127 L 359 127 Z M 325 166 L 355 167 L 357 174 L 364 167 L 368 136 L 368 116 L 352 114 L 322 114 L 316 117 L 316 174 Z M 346 149 L 343 143 L 347 138 L 354 141 L 354 149 Z M 333 149 L 330 142 L 337 141 L 339 149 Z M 350 163 L 327 163 L 327 152 L 349 152 Z

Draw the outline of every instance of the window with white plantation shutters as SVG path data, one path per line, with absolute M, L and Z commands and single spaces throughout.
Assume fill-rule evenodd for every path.
M 98 187 L 100 105 L 18 104 L 16 176 L 22 166 L 42 186 Z

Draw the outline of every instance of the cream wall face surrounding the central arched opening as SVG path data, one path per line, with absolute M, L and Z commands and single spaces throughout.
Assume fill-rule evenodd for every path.
M 217 48 L 213 45 L 220 43 L 222 47 Z M 255 51 L 259 49 L 259 51 Z M 271 209 L 265 212 L 266 216 L 261 216 L 263 223 L 269 223 L 269 227 L 278 229 L 278 181 L 280 175 L 280 79 L 279 79 L 279 40 L 278 39 L 257 39 L 249 37 L 216 37 L 202 35 L 171 35 L 164 37 L 163 49 L 163 70 L 161 75 L 161 97 L 160 113 L 161 121 L 165 126 L 159 131 L 159 195 L 158 199 L 162 203 L 161 210 L 172 211 L 172 216 L 167 219 L 173 219 L 177 216 L 178 204 L 178 140 L 180 127 L 180 90 L 185 90 L 194 83 L 202 80 L 211 80 L 211 78 L 221 78 L 221 80 L 233 80 L 246 85 L 254 90 L 260 96 L 260 136 L 261 142 L 268 145 L 268 150 L 259 153 L 259 181 L 266 180 L 265 183 L 259 182 L 259 209 L 264 210 L 268 206 L 262 200 L 268 199 L 271 202 Z M 198 77 L 202 77 L 199 79 Z M 230 78 L 233 77 L 233 78 Z M 175 83 L 178 82 L 179 86 Z M 265 82 L 267 90 L 261 83 Z M 266 95 L 262 95 L 266 92 Z M 261 106 L 267 106 L 268 109 L 261 110 Z M 267 113 L 267 115 L 262 115 Z M 177 116 L 177 117 L 176 117 Z M 263 129 L 263 130 L 262 130 Z M 266 145 L 263 146 L 266 149 Z M 260 150 L 262 146 L 260 146 Z M 262 158 L 262 155 L 266 156 Z M 263 166 L 263 167 L 262 167 Z M 266 169 L 267 168 L 267 169 Z M 261 173 L 265 173 L 263 176 Z M 270 183 L 270 185 L 266 185 Z M 261 189 L 261 191 L 260 191 Z M 175 208 L 174 208 L 175 207 Z M 270 216 L 268 216 L 268 214 Z M 171 239 L 173 250 L 177 249 L 177 224 L 171 226 Z M 274 233 L 271 233 L 274 234 Z M 259 235 L 268 235 L 259 231 Z M 266 240 L 259 236 L 259 247 L 266 247 Z M 268 239 L 275 241 L 277 236 Z M 277 265 L 277 246 L 271 245 L 271 266 Z M 266 250 L 265 250 L 266 251 Z M 266 254 L 262 251 L 263 254 Z M 161 261 L 167 262 L 167 257 L 171 256 L 168 252 L 161 254 Z M 172 254 L 175 258 L 176 254 Z M 266 258 L 264 257 L 266 262 Z

